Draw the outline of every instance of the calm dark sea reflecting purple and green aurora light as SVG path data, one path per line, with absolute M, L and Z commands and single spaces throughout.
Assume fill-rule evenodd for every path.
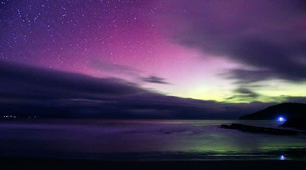
M 306 134 L 277 136 L 222 129 L 254 120 L 71 120 L 0 122 L 0 155 L 101 160 L 303 159 Z

